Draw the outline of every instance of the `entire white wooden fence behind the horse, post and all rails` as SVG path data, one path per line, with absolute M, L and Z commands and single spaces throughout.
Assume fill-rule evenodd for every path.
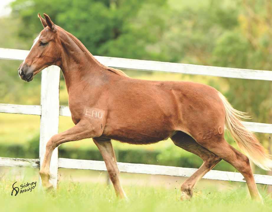
M 24 60 L 28 52 L 29 51 L 25 50 L 0 48 L 0 59 Z M 106 66 L 116 68 L 272 81 L 272 71 L 222 68 L 102 56 L 95 56 L 95 58 Z M 47 70 L 42 71 L 41 105 L 0 104 L 1 113 L 31 114 L 41 116 L 39 159 L 0 157 L 0 166 L 32 168 L 40 167 L 40 162 L 43 160 L 47 141 L 52 135 L 58 133 L 59 116 L 71 116 L 68 107 L 59 106 L 59 79 L 60 68 L 57 66 L 50 66 L 47 68 Z M 243 124 L 248 130 L 253 132 L 272 134 L 272 124 L 254 122 L 243 122 Z M 162 174 L 180 177 L 190 177 L 196 171 L 196 169 L 191 168 L 147 164 L 118 163 L 118 166 L 119 170 L 122 172 Z M 58 158 L 58 149 L 56 148 L 51 159 L 51 173 L 58 176 L 58 168 L 106 170 L 104 161 Z M 272 185 L 272 176 L 255 174 L 254 177 L 256 183 Z M 203 178 L 245 182 L 240 173 L 228 171 L 212 170 L 209 171 Z M 57 179 L 53 181 L 53 184 L 56 186 Z

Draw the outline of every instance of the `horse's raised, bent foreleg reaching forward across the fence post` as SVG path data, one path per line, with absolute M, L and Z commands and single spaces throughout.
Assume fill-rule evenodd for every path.
M 94 132 L 91 130 L 89 122 L 80 121 L 74 127 L 65 132 L 53 135 L 46 144 L 45 156 L 40 167 L 40 176 L 42 179 L 42 186 L 45 190 L 51 190 L 53 185 L 49 182 L 50 180 L 50 161 L 53 150 L 60 144 L 68 141 L 76 141 L 84 138 L 94 137 Z

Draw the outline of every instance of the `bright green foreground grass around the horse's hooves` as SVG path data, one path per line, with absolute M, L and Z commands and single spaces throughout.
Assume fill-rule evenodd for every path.
M 55 194 L 39 188 L 11 196 L 12 182 L 1 182 L 1 211 L 271 211 L 272 200 L 263 195 L 264 205 L 253 202 L 247 189 L 219 192 L 207 188 L 195 193 L 191 201 L 180 201 L 178 189 L 150 186 L 125 186 L 129 201 L 118 200 L 112 186 L 96 183 L 60 182 Z

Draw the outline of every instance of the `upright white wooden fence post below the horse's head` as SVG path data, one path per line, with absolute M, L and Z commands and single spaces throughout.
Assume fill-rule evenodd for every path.
M 41 120 L 40 120 L 40 148 L 39 158 L 40 165 L 44 159 L 45 147 L 47 141 L 53 135 L 58 133 L 60 102 L 60 68 L 50 66 L 42 70 L 41 83 Z M 51 180 L 54 187 L 58 182 L 58 148 L 55 148 L 50 163 L 50 173 L 56 178 Z M 41 181 L 41 179 L 40 179 Z

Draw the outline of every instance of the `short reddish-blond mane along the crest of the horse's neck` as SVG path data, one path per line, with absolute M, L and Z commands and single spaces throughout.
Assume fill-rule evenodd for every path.
M 64 29 L 62 29 L 64 30 Z M 89 56 L 94 60 L 94 62 L 96 62 L 100 67 L 108 70 L 108 71 L 111 71 L 117 75 L 120 75 L 120 76 L 123 76 L 123 77 L 129 77 L 127 76 L 123 71 L 119 70 L 119 69 L 115 69 L 115 68 L 112 68 L 112 67 L 108 67 L 108 66 L 105 66 L 103 64 L 101 64 L 92 54 L 91 52 L 83 45 L 83 43 L 81 43 L 80 40 L 78 40 L 78 38 L 76 38 L 74 35 L 72 35 L 71 33 L 67 32 L 66 30 L 64 30 L 64 32 L 76 43 L 76 45 L 82 50 L 82 51 L 86 51 L 88 52 Z

